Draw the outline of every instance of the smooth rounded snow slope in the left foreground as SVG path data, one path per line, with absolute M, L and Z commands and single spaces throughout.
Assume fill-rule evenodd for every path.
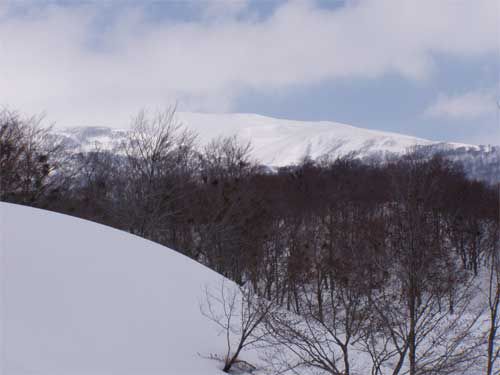
M 222 373 L 200 356 L 224 338 L 199 311 L 220 275 L 70 216 L 0 203 L 0 220 L 2 375 Z

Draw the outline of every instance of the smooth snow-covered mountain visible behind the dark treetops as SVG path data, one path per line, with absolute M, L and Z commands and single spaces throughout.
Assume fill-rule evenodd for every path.
M 295 164 L 303 157 L 333 158 L 355 152 L 359 157 L 401 154 L 415 145 L 436 145 L 446 149 L 475 149 L 476 146 L 441 143 L 402 134 L 357 128 L 330 121 L 293 121 L 255 114 L 177 113 L 178 120 L 198 135 L 202 146 L 219 136 L 236 135 L 250 141 L 253 157 L 269 166 Z M 109 149 L 125 137 L 126 130 L 106 127 L 78 127 L 58 130 L 66 142 L 83 150 L 99 146 Z

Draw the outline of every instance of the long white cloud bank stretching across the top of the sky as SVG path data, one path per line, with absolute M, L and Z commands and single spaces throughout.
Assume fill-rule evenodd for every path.
M 212 3 L 210 3 L 212 4 Z M 269 17 L 150 22 L 119 12 L 96 29 L 94 6 L 36 7 L 0 19 L 0 104 L 63 124 L 123 126 L 138 108 L 178 101 L 230 110 L 241 88 L 282 89 L 395 73 L 425 80 L 435 54 L 498 48 L 494 0 L 366 0 L 325 10 L 293 1 Z M 22 12 L 21 12 L 22 13 Z

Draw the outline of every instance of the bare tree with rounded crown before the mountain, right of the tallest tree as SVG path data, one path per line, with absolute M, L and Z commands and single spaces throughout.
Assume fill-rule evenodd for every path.
M 253 253 L 255 237 L 248 236 L 259 208 L 251 188 L 256 165 L 250 144 L 237 138 L 218 138 L 200 158 L 200 185 L 194 196 L 199 254 L 217 272 L 242 284 L 246 256 Z

